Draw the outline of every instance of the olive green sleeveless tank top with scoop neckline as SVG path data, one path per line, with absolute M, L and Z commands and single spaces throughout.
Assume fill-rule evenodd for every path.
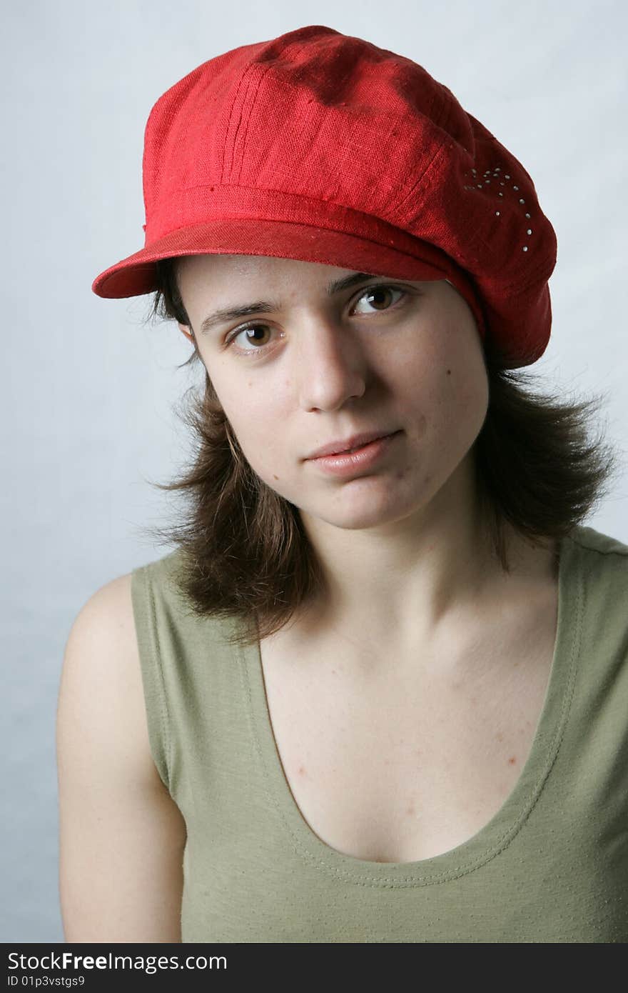
M 628 546 L 560 546 L 554 658 L 512 792 L 463 844 L 370 862 L 322 842 L 273 735 L 259 644 L 186 609 L 179 550 L 132 573 L 152 755 L 188 828 L 185 942 L 628 940 Z

